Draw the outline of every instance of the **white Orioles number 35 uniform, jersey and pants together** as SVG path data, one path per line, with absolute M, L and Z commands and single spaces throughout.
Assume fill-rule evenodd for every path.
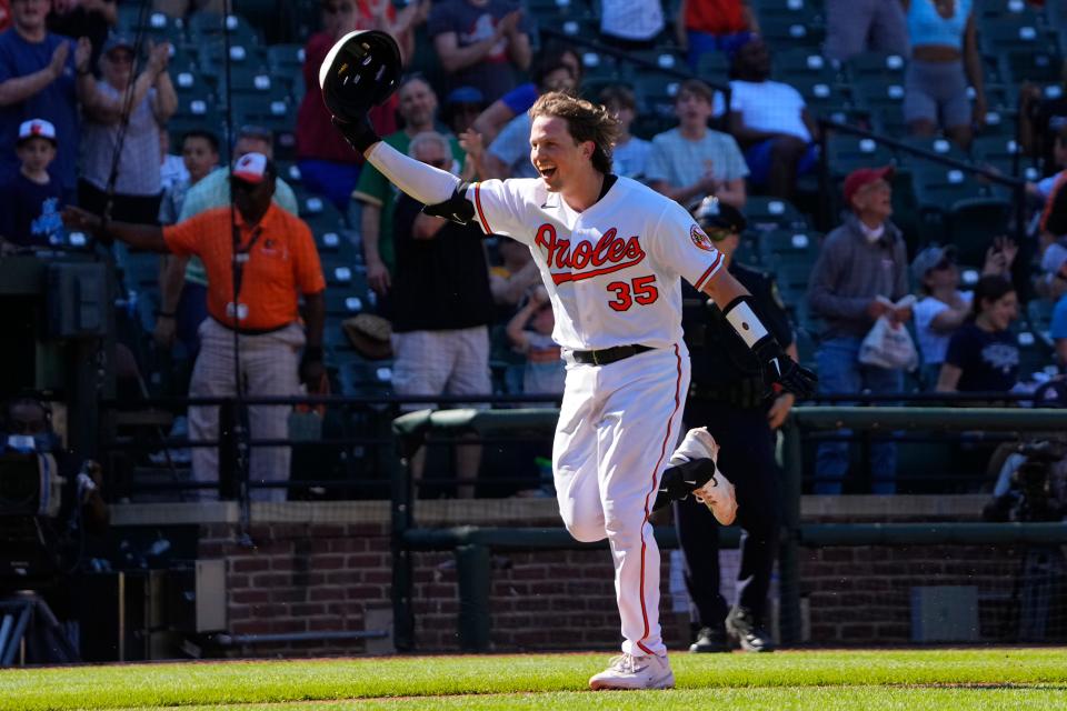
M 689 389 L 679 277 L 700 289 L 722 256 L 678 203 L 628 178 L 584 212 L 540 179 L 488 180 L 467 199 L 486 233 L 529 246 L 551 296 L 557 343 L 654 349 L 605 367 L 568 365 L 552 479 L 571 535 L 611 545 L 622 651 L 666 654 L 648 515 Z

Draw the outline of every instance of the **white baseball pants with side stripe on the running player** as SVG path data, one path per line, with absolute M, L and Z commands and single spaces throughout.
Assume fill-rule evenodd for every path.
M 608 539 L 622 651 L 630 654 L 667 651 L 659 628 L 659 548 L 648 515 L 688 390 L 684 344 L 607 365 L 567 367 L 552 445 L 559 511 L 577 540 Z

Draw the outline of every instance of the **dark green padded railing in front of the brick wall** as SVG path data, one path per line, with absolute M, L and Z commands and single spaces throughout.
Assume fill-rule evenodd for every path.
M 431 433 L 488 434 L 517 430 L 551 431 L 558 419 L 552 409 L 513 411 L 422 411 L 398 418 L 392 425 L 398 451 L 407 463 Z M 965 432 L 1067 431 L 1067 410 L 945 409 L 945 408 L 795 408 L 785 430 L 786 462 L 782 487 L 782 529 L 779 549 L 779 628 L 785 644 L 800 641 L 799 549 L 831 545 L 916 545 L 937 543 L 1005 544 L 1067 543 L 1067 523 L 874 523 L 828 524 L 800 521 L 801 432 L 934 430 Z M 398 649 L 416 647 L 413 571 L 418 550 L 452 550 L 459 578 L 459 635 L 463 649 L 482 651 L 490 633 L 489 579 L 492 550 L 586 550 L 600 544 L 578 543 L 562 529 L 546 528 L 419 528 L 410 472 L 392 479 L 391 532 L 393 555 L 393 624 Z M 736 545 L 736 530 L 727 529 L 725 545 Z M 665 548 L 677 544 L 674 532 L 656 530 Z

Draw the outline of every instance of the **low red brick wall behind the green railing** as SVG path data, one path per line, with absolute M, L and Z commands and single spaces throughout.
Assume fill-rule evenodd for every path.
M 851 498 L 842 501 L 847 499 Z M 510 500 L 495 513 L 492 502 L 431 503 L 440 505 L 435 509 L 420 504 L 429 509 L 427 515 L 420 517 L 425 525 L 558 524 L 554 501 L 517 503 Z M 253 509 L 252 520 L 261 521 L 253 523 L 249 531 L 255 548 L 238 543 L 236 523 L 201 523 L 199 555 L 227 561 L 228 631 L 263 634 L 365 630 L 368 610 L 389 610 L 388 512 L 381 502 L 363 502 L 363 505 L 362 513 L 347 517 L 362 519 L 361 522 L 273 522 L 269 521 L 270 515 L 257 514 Z M 967 518 L 934 510 L 924 515 L 921 511 L 917 513 L 914 505 L 906 515 L 894 517 L 885 505 L 881 502 L 878 510 L 859 514 L 854 507 L 837 517 L 816 507 L 817 510 L 809 512 L 814 515 L 806 515 L 806 520 Z M 943 507 L 944 501 L 930 502 L 930 505 Z M 482 519 L 473 511 L 481 511 Z M 287 514 L 289 518 L 301 515 L 299 512 Z M 907 643 L 911 630 L 910 592 L 915 585 L 977 585 L 981 638 L 1011 641 L 1015 618 L 1010 594 L 1019 557 L 1018 550 L 1007 547 L 802 550 L 801 591 L 808 602 L 810 643 L 834 647 Z M 666 611 L 669 609 L 669 555 L 664 554 L 662 559 L 661 609 Z M 419 650 L 458 650 L 459 601 L 452 555 L 419 552 L 413 555 L 413 568 Z M 605 551 L 496 554 L 491 614 L 491 643 L 498 651 L 615 649 L 619 642 L 619 620 L 610 559 Z M 670 648 L 688 644 L 688 624 L 684 618 L 665 612 L 661 621 Z M 360 653 L 365 649 L 363 641 L 306 642 L 256 645 L 236 653 L 316 655 Z

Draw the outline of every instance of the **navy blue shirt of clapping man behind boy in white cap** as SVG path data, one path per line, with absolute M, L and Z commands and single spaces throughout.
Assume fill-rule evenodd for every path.
M 19 124 L 30 119 L 44 119 L 56 127 L 59 147 L 48 172 L 59 180 L 67 194 L 73 194 L 78 184 L 78 99 L 74 93 L 78 72 L 74 69 L 74 42 L 59 34 L 48 33 L 41 42 L 27 42 L 14 29 L 0 32 L 0 82 L 26 77 L 48 67 L 52 52 L 60 43 L 70 44 L 67 67 L 53 82 L 32 97 L 0 107 L 0 181 L 11 180 L 19 171 L 14 141 Z

